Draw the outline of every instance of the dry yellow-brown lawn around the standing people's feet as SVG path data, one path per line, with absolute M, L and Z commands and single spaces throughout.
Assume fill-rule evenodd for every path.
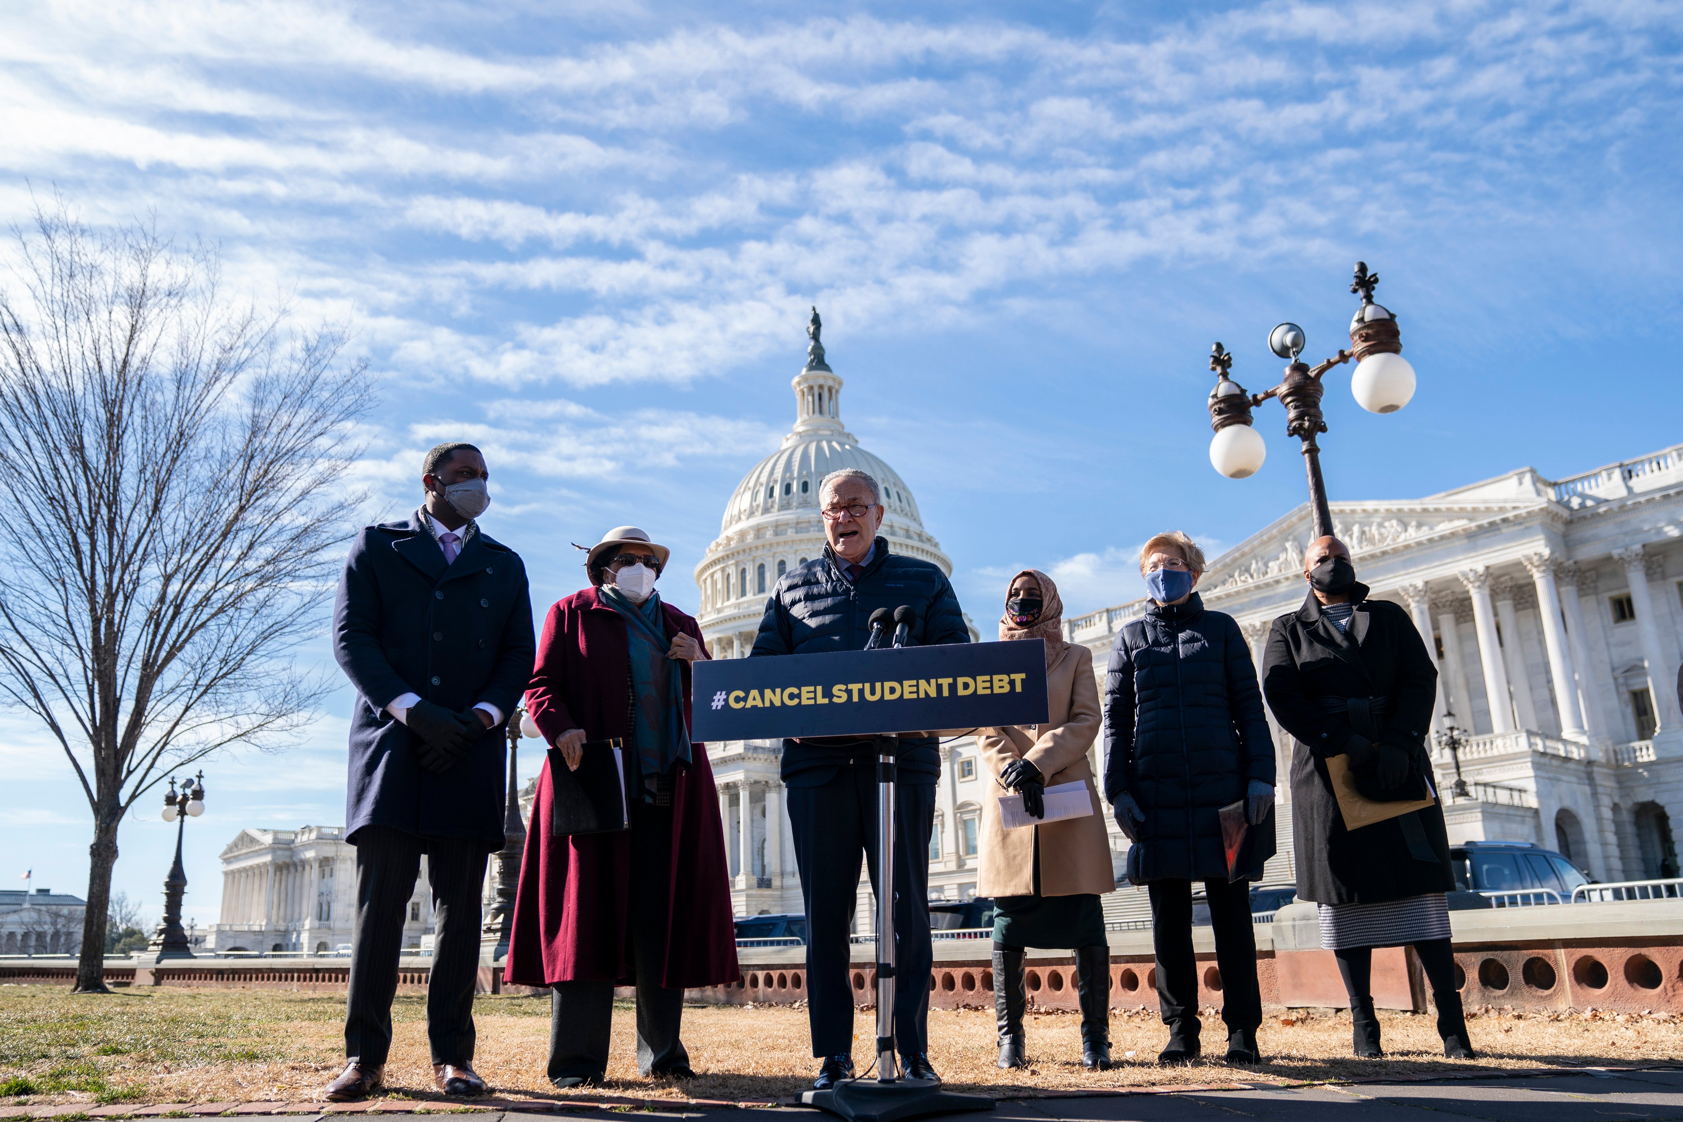
M 44 986 L 0 986 L 0 1085 L 25 1080 L 32 1102 L 310 1102 L 337 1073 L 343 998 L 271 991 L 153 989 L 113 998 L 76 998 Z M 399 998 L 387 1083 L 399 1095 L 433 1097 L 424 999 Z M 498 1090 L 554 1095 L 544 1078 L 549 1004 L 532 998 L 481 998 L 475 1066 Z M 1683 1055 L 1683 1021 L 1641 1016 L 1484 1014 L 1471 1021 L 1481 1058 L 1442 1058 L 1431 1016 L 1382 1014 L 1388 1058 L 1350 1056 L 1348 1014 L 1271 1014 L 1259 1033 L 1264 1063 L 1230 1068 L 1205 1060 L 1158 1068 L 1165 1029 L 1155 1014 L 1118 1013 L 1111 1038 L 1118 1070 L 1080 1066 L 1080 1021 L 1074 1014 L 1028 1019 L 1033 1066 L 995 1066 L 993 1014 L 932 1011 L 931 1058 L 954 1087 L 1070 1090 L 1257 1080 L 1341 1080 L 1383 1075 L 1557 1063 L 1622 1065 Z M 757 1100 L 810 1087 L 806 1011 L 796 1008 L 685 1009 L 685 1043 L 700 1073 L 683 1087 L 636 1075 L 633 1013 L 616 1008 L 606 1093 Z M 875 1036 L 875 1014 L 860 1013 L 855 1040 Z M 1205 1043 L 1220 1055 L 1225 1033 L 1205 1016 Z M 868 1043 L 855 1055 L 868 1060 Z M 20 1102 L 13 1082 L 12 1098 Z M 604 1092 L 594 1092 L 601 1095 Z M 589 1093 L 586 1093 L 589 1097 Z

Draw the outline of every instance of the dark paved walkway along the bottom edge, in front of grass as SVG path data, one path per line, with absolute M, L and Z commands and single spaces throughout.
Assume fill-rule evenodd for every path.
M 337 1115 L 369 1114 L 404 1122 L 439 1122 L 441 1112 L 466 1107 L 473 1122 L 554 1122 L 572 1119 L 705 1119 L 751 1122 L 779 1115 L 779 1122 L 820 1122 L 831 1115 L 804 1107 L 772 1103 L 703 1103 L 663 1098 L 581 1100 L 461 1100 L 439 1102 L 412 1114 L 394 1100 L 364 1103 L 165 1103 L 155 1107 L 0 1107 L 0 1119 L 157 1119 L 215 1115 L 291 1115 L 288 1122 L 350 1122 Z M 431 1103 L 429 1103 L 431 1105 Z M 744 1114 L 751 1107 L 754 1114 Z M 1429 1114 L 1427 1114 L 1429 1112 Z M 1479 1075 L 1474 1078 L 1419 1078 L 1338 1085 L 1276 1087 L 1225 1083 L 1183 1088 L 1131 1088 L 1094 1093 L 1055 1092 L 1038 1098 L 1000 1100 L 990 1114 L 946 1115 L 976 1122 L 1432 1122 L 1432 1119 L 1488 1119 L 1489 1122 L 1683 1122 L 1683 1066 L 1548 1070 L 1537 1075 Z

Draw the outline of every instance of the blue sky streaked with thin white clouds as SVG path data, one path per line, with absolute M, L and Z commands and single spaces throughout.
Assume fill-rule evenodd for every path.
M 416 501 L 424 447 L 480 442 L 539 609 L 581 584 L 567 543 L 626 521 L 693 609 L 816 303 L 843 419 L 971 616 L 1023 565 L 1079 612 L 1138 594 L 1156 530 L 1218 550 L 1303 501 L 1274 404 L 1262 473 L 1210 469 L 1205 362 L 1218 338 L 1271 385 L 1281 320 L 1336 352 L 1356 259 L 1419 392 L 1375 417 L 1330 375 L 1333 498 L 1683 439 L 1680 29 L 1664 0 L 19 0 L 0 215 L 54 187 L 96 224 L 151 212 L 219 241 L 239 289 L 347 323 L 382 390 L 362 513 Z M 348 708 L 205 765 L 188 915 L 214 920 L 239 828 L 342 821 Z M 0 878 L 81 892 L 57 749 L 0 713 Z M 116 885 L 153 913 L 170 833 L 121 836 Z

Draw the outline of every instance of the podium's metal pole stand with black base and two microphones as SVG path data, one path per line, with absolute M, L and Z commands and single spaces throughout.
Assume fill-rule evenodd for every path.
M 894 646 L 904 646 L 907 627 L 895 629 Z M 872 643 L 882 634 L 872 629 Z M 865 649 L 872 649 L 872 643 Z M 993 1110 L 983 1095 L 954 1095 L 941 1090 L 939 1080 L 900 1077 L 894 1041 L 894 982 L 899 954 L 894 940 L 894 786 L 900 754 L 900 735 L 877 733 L 877 1078 L 845 1080 L 835 1090 L 810 1090 L 801 1095 L 808 1107 L 818 1107 L 853 1122 L 899 1122 L 929 1114 Z M 927 902 L 921 902 L 929 907 Z

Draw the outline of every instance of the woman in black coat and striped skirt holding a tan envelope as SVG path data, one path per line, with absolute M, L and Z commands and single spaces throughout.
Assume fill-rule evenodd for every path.
M 1274 621 L 1262 659 L 1269 708 L 1298 740 L 1291 754 L 1298 898 L 1321 905 L 1321 945 L 1338 957 L 1358 1056 L 1382 1055 L 1368 987 L 1373 947 L 1412 944 L 1432 986 L 1444 1055 L 1471 1058 L 1444 897 L 1456 886 L 1449 838 L 1424 745 L 1437 669 L 1409 614 L 1367 599 L 1343 542 L 1313 542 L 1303 575 L 1309 595 Z M 1346 829 L 1328 774 L 1328 760 L 1338 757 L 1362 796 L 1432 804 Z

